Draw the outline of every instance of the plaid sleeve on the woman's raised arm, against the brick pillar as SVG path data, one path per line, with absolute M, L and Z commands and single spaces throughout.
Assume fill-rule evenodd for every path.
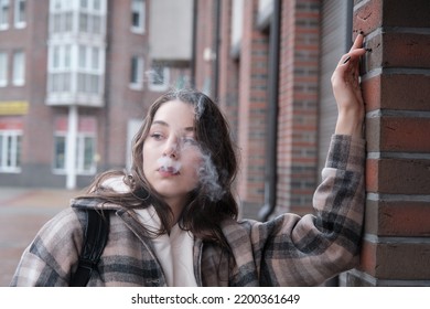
M 316 286 L 356 265 L 365 196 L 364 146 L 364 140 L 332 137 L 314 193 L 314 214 L 225 223 L 235 265 L 230 285 Z

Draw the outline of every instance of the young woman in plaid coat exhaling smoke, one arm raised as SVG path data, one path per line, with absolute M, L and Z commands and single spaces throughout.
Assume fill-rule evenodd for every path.
M 364 104 L 358 35 L 332 76 L 338 107 L 315 215 L 237 220 L 235 149 L 204 94 L 178 90 L 149 109 L 130 173 L 106 172 L 25 249 L 12 286 L 68 286 L 83 209 L 108 210 L 110 232 L 88 286 L 313 286 L 357 263 L 364 209 Z

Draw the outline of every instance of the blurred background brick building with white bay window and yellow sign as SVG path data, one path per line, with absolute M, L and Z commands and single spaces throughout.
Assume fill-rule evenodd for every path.
M 147 106 L 190 79 L 191 47 L 182 66 L 151 55 L 150 4 L 0 0 L 0 185 L 79 188 L 127 167 Z

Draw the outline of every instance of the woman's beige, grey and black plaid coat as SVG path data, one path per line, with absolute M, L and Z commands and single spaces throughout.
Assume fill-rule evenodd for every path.
M 315 215 L 282 214 L 261 223 L 228 220 L 222 231 L 232 254 L 195 239 L 200 286 L 315 286 L 358 262 L 364 212 L 364 141 L 333 136 Z M 84 216 L 76 202 L 39 232 L 11 286 L 67 286 L 80 253 Z M 132 211 L 110 205 L 110 234 L 89 286 L 165 286 L 151 239 Z

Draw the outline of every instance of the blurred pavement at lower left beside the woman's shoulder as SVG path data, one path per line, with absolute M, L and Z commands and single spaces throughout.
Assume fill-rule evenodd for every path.
M 24 248 L 42 225 L 82 191 L 0 187 L 0 287 L 8 286 Z

